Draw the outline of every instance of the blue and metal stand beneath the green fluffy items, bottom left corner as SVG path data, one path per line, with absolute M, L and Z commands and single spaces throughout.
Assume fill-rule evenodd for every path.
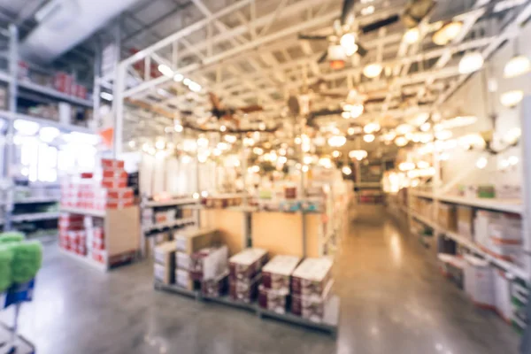
M 4 324 L 0 327 L 0 350 L 3 350 L 3 353 L 35 354 L 35 346 L 17 334 L 20 306 L 32 301 L 34 287 L 35 280 L 32 280 L 26 284 L 12 286 L 4 294 L 4 309 L 13 305 L 14 319 L 13 327 L 7 327 Z

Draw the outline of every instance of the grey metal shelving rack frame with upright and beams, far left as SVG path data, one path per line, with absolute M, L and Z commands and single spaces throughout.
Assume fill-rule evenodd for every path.
M 50 97 L 51 99 L 57 99 L 58 102 L 66 102 L 82 107 L 93 108 L 92 100 L 81 99 L 79 97 L 66 95 L 56 89 L 51 89 L 34 82 L 20 81 L 18 76 L 19 69 L 19 31 L 15 25 L 10 25 L 7 30 L 0 30 L 0 33 L 9 38 L 9 50 L 8 50 L 8 72 L 0 72 L 0 81 L 8 84 L 9 102 L 8 109 L 6 111 L 0 111 L 0 117 L 7 120 L 7 139 L 6 139 L 6 156 L 7 160 L 4 162 L 4 175 L 12 176 L 13 158 L 15 155 L 14 150 L 14 127 L 13 122 L 16 119 L 31 120 L 39 123 L 42 126 L 57 127 L 59 130 L 68 132 L 80 132 L 80 133 L 93 133 L 88 127 L 79 127 L 70 124 L 64 124 L 58 121 L 45 119 L 41 117 L 29 116 L 27 114 L 17 112 L 17 98 L 19 96 L 19 89 L 35 92 L 36 94 Z M 58 212 L 38 212 L 31 214 L 13 215 L 13 209 L 16 204 L 49 204 L 56 203 L 56 198 L 27 198 L 24 200 L 14 200 L 14 187 L 5 189 L 5 202 L 4 202 L 4 229 L 12 229 L 13 222 L 27 222 L 45 219 L 58 219 Z

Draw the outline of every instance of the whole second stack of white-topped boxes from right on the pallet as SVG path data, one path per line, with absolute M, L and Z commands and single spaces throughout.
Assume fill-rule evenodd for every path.
M 262 268 L 262 284 L 258 287 L 260 307 L 277 313 L 286 313 L 291 294 L 291 274 L 301 258 L 275 256 Z

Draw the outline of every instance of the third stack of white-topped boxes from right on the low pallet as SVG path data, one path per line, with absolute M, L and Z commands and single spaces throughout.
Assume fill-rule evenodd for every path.
M 262 267 L 267 261 L 267 251 L 246 249 L 228 260 L 229 292 L 233 300 L 250 304 L 258 296 Z

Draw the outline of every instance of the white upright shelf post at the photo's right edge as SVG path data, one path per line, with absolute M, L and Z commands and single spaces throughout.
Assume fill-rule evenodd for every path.
M 528 181 L 531 181 L 531 96 L 524 97 L 522 109 L 520 111 L 521 142 L 522 153 L 522 201 L 524 210 L 522 211 L 522 237 L 524 240 L 524 269 L 527 273 L 526 281 L 531 281 L 531 188 Z

